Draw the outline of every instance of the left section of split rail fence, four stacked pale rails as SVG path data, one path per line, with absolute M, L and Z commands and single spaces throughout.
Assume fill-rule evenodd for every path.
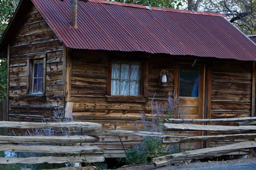
M 101 125 L 91 122 L 0 122 L 0 127 L 19 129 L 46 129 L 46 128 L 83 128 L 88 131 L 100 129 Z M 39 164 L 39 163 L 90 163 L 102 162 L 103 156 L 79 156 L 82 153 L 99 152 L 96 146 L 53 146 L 53 145 L 29 145 L 27 143 L 56 143 L 56 144 L 77 144 L 86 142 L 98 142 L 96 136 L 0 136 L 0 151 L 8 152 L 29 152 L 29 153 L 74 153 L 78 156 L 42 156 L 29 158 L 0 158 L 0 164 Z M 19 144 L 19 143 L 26 143 Z

